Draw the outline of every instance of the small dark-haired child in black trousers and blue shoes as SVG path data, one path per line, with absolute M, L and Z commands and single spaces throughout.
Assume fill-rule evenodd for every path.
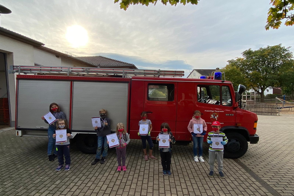
M 165 136 L 168 135 L 168 143 L 166 139 L 163 139 L 163 145 L 168 144 L 168 148 L 161 148 L 161 145 L 159 144 L 159 151 L 160 151 L 160 157 L 161 157 L 161 165 L 163 168 L 163 175 L 169 175 L 171 176 L 171 150 L 172 150 L 172 144 L 176 143 L 175 137 L 173 137 L 173 134 L 171 133 L 171 128 L 169 127 L 168 123 L 162 123 L 160 126 L 161 132 L 156 137 L 157 143 L 160 143 L 161 135 Z

